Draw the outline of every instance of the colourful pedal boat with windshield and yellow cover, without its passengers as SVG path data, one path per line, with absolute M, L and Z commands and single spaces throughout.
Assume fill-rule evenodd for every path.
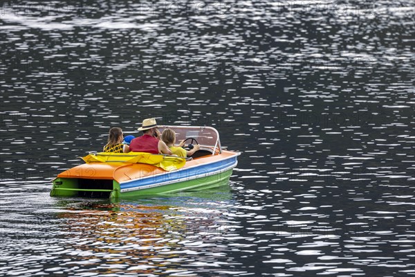
M 193 139 L 200 150 L 191 159 L 140 152 L 90 153 L 82 158 L 86 163 L 57 175 L 50 196 L 122 198 L 228 184 L 241 153 L 224 150 L 216 129 L 160 126 L 160 132 L 167 127 L 176 132 L 176 141 Z

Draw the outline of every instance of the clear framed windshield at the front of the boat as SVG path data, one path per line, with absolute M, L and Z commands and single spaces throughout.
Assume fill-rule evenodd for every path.
M 172 126 L 172 125 L 162 125 L 158 126 L 160 132 L 163 132 L 164 129 L 170 128 L 176 132 L 176 143 L 183 139 L 193 138 L 203 146 L 210 146 L 212 148 L 219 149 L 221 152 L 221 142 L 219 140 L 219 133 L 214 129 L 214 127 L 205 127 L 205 126 Z M 190 140 L 186 143 L 190 143 Z

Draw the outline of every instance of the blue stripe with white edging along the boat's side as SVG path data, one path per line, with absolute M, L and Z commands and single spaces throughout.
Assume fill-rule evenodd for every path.
M 194 168 L 183 168 L 172 172 L 167 172 L 163 175 L 155 175 L 153 177 L 146 177 L 145 179 L 137 179 L 127 183 L 120 184 L 120 189 L 138 188 L 140 186 L 148 186 L 153 184 L 160 184 L 166 181 L 174 182 L 174 180 L 187 179 L 197 176 L 203 176 L 207 173 L 222 170 L 234 165 L 237 162 L 237 157 L 230 157 L 222 161 L 216 161 L 207 165 L 195 166 Z

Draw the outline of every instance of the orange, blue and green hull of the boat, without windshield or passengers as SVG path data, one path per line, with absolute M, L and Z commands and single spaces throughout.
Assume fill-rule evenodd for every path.
M 224 150 L 169 172 L 145 163 L 85 163 L 59 174 L 50 195 L 119 198 L 214 188 L 228 183 L 239 154 Z

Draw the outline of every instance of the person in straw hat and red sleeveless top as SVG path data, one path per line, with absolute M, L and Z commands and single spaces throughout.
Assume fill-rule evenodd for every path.
M 142 125 L 138 128 L 144 134 L 133 139 L 129 145 L 129 150 L 133 152 L 146 152 L 151 154 L 172 154 L 167 145 L 160 140 L 160 131 L 157 129 L 155 118 L 142 120 Z

